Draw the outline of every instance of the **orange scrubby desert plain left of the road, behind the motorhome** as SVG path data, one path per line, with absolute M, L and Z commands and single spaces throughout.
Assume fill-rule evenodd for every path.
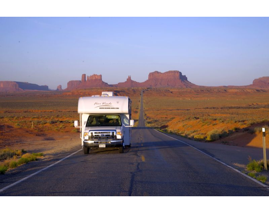
M 138 121 L 141 89 L 99 88 L 72 92 L 0 93 L 0 147 L 29 140 L 44 140 L 54 133 L 76 133 L 79 120 L 78 99 L 81 96 L 114 91 L 132 100 L 132 119 Z M 37 138 L 39 137 L 39 138 Z

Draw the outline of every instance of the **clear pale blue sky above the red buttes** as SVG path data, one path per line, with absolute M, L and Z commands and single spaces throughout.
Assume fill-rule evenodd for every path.
M 269 76 L 269 18 L 0 17 L 0 81 L 67 87 L 82 74 L 116 84 L 180 70 L 197 85 Z

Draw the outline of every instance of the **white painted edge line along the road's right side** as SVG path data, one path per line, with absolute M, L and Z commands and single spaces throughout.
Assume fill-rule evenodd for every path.
M 154 130 L 157 131 L 157 132 L 159 132 L 159 131 L 156 130 L 156 129 L 154 129 Z M 232 166 L 229 166 L 228 164 L 226 164 L 226 163 L 224 163 L 224 162 L 218 160 L 217 158 L 214 158 L 214 157 L 208 155 L 207 153 L 205 153 L 205 152 L 203 152 L 203 151 L 201 151 L 201 150 L 199 150 L 199 149 L 193 147 L 192 145 L 187 144 L 186 142 L 184 142 L 184 141 L 182 141 L 182 140 L 179 140 L 179 139 L 177 139 L 177 138 L 175 138 L 175 137 L 169 136 L 169 135 L 164 134 L 164 133 L 162 133 L 162 132 L 159 132 L 159 133 L 161 133 L 161 134 L 163 134 L 163 135 L 165 135 L 165 136 L 167 136 L 167 137 L 173 138 L 174 140 L 178 140 L 178 141 L 180 141 L 181 143 L 183 143 L 183 144 L 185 144 L 185 145 L 187 145 L 187 146 L 189 146 L 189 147 L 191 147 L 191 148 L 197 150 L 197 151 L 200 152 L 200 153 L 203 153 L 204 155 L 206 155 L 206 156 L 208 156 L 208 157 L 214 159 L 215 161 L 217 161 L 217 162 L 223 164 L 224 166 L 226 166 L 226 167 L 228 167 L 228 168 L 230 168 L 230 169 L 232 169 L 232 170 L 234 170 L 234 171 L 236 171 L 236 172 L 242 174 L 243 176 L 247 177 L 247 178 L 250 179 L 251 181 L 254 181 L 256 184 L 259 184 L 260 186 L 262 186 L 262 187 L 266 188 L 267 190 L 269 190 L 269 186 L 267 186 L 267 185 L 265 185 L 265 184 L 263 184 L 263 183 L 257 181 L 256 179 L 254 179 L 253 177 L 251 177 L 251 176 L 249 176 L 249 175 L 247 175 L 247 174 L 244 174 L 242 171 L 240 171 L 240 170 L 238 170 L 238 169 L 236 169 L 236 168 L 233 168 Z

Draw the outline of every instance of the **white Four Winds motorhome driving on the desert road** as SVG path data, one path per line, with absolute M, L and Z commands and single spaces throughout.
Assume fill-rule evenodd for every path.
M 101 96 L 79 98 L 78 113 L 81 143 L 84 154 L 92 148 L 119 148 L 131 146 L 131 100 L 129 97 L 114 96 L 113 92 L 103 92 Z

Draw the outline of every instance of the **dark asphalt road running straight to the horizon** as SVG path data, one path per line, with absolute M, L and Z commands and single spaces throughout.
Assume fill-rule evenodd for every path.
M 145 127 L 143 101 L 141 112 L 139 127 L 132 130 L 132 147 L 125 153 L 80 151 L 0 196 L 269 195 L 269 190 L 209 156 Z M 15 175 L 9 184 L 12 180 Z

